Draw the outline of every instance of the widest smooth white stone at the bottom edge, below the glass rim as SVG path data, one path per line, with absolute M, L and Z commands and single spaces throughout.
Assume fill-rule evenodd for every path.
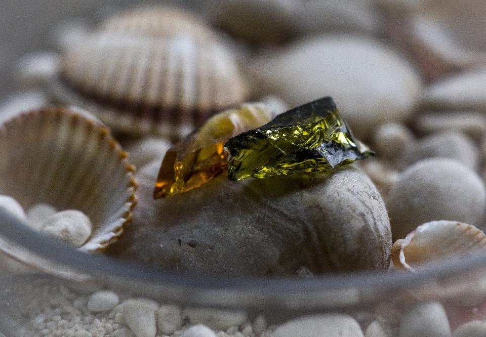
M 340 314 L 307 316 L 280 325 L 270 337 L 363 337 L 363 332 L 352 317 Z

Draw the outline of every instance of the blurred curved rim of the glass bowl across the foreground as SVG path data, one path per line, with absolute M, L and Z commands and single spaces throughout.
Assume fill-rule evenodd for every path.
M 386 300 L 412 297 L 453 297 L 467 284 L 486 279 L 486 252 L 417 273 L 370 272 L 313 278 L 201 278 L 158 272 L 101 255 L 87 254 L 30 229 L 0 208 L 0 236 L 61 266 L 90 275 L 95 282 L 125 289 L 139 296 L 181 305 L 285 312 L 314 312 L 358 308 Z M 474 274 L 471 277 L 465 275 Z M 54 277 L 54 276 L 53 276 Z M 448 290 L 449 289 L 449 290 Z M 454 292 L 455 291 L 455 292 Z

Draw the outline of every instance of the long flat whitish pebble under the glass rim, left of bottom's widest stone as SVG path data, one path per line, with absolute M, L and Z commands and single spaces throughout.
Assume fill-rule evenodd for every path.
M 191 324 L 204 324 L 214 330 L 226 330 L 234 325 L 245 323 L 248 315 L 244 311 L 224 311 L 208 308 L 187 308 L 184 316 Z

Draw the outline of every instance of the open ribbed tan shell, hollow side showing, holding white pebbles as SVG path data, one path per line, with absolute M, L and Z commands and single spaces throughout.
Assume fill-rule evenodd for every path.
M 24 209 L 47 203 L 90 218 L 92 234 L 80 250 L 104 250 L 132 219 L 134 167 L 93 119 L 56 107 L 21 114 L 0 128 L 0 157 L 0 194 Z

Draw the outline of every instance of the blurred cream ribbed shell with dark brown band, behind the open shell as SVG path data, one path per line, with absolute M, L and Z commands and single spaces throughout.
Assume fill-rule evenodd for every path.
M 235 57 L 209 28 L 155 14 L 145 13 L 147 25 L 141 13 L 130 24 L 107 22 L 107 31 L 66 52 L 51 83 L 54 98 L 93 112 L 115 131 L 175 139 L 245 100 Z M 158 21 L 162 28 L 149 32 Z M 164 32 L 171 25 L 181 31 Z

